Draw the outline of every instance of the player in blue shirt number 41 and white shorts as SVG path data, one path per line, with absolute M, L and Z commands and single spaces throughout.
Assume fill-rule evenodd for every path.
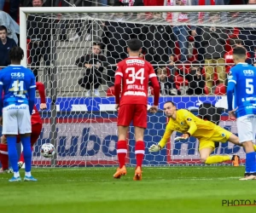
M 24 53 L 20 47 L 9 50 L 11 65 L 0 72 L 0 119 L 3 110 L 3 135 L 7 138 L 9 160 L 14 176 L 9 181 L 21 181 L 16 150 L 17 135 L 23 146 L 25 159 L 24 181 L 37 181 L 31 175 L 31 114 L 35 101 L 36 80 L 31 70 L 20 66 Z M 2 100 L 2 93 L 3 100 Z

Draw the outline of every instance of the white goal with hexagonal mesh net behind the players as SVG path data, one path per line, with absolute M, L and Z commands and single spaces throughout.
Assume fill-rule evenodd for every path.
M 160 111 L 148 113 L 143 164 L 200 164 L 198 141 L 193 137 L 174 141 L 179 135 L 175 132 L 160 153 L 148 153 L 148 147 L 164 134 L 167 120 L 161 110 L 165 101 L 195 114 L 202 103 L 227 108 L 225 83 L 233 65 L 230 50 L 235 45 L 243 45 L 253 63 L 253 9 L 211 7 L 21 9 L 23 64 L 32 69 L 47 92 L 48 109 L 40 112 L 44 125 L 34 147 L 33 164 L 118 164 L 113 75 L 116 63 L 127 57 L 126 41 L 133 37 L 143 41 L 141 57 L 154 66 L 161 85 Z M 148 105 L 153 99 L 148 87 Z M 236 122 L 224 110 L 219 125 L 237 132 Z M 131 165 L 136 164 L 133 133 L 131 126 L 126 158 Z M 39 148 L 46 142 L 55 145 L 55 158 L 40 156 Z M 242 148 L 230 143 L 220 144 L 214 153 L 245 158 Z

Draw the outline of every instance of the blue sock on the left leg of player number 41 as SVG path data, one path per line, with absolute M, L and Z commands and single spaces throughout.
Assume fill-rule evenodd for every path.
M 9 154 L 9 161 L 12 165 L 12 168 L 14 172 L 19 172 L 19 167 L 18 167 L 18 153 L 16 149 L 16 142 L 17 142 L 17 137 L 11 137 L 7 136 L 7 144 L 8 144 L 8 154 Z

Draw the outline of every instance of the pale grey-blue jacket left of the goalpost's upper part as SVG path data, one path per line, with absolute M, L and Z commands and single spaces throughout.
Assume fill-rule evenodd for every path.
M 9 14 L 3 11 L 0 11 L 0 26 L 5 26 L 7 28 L 7 36 L 15 39 L 15 43 L 19 42 L 17 34 L 20 34 L 20 26 Z

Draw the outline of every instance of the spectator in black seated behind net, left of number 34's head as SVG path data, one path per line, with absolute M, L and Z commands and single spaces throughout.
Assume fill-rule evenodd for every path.
M 79 85 L 87 89 L 87 97 L 91 96 L 91 90 L 94 90 L 94 95 L 100 96 L 98 88 L 102 84 L 102 72 L 105 63 L 106 57 L 102 55 L 101 43 L 93 43 L 92 53 L 76 60 L 77 66 L 86 68 L 84 77 L 79 79 Z

